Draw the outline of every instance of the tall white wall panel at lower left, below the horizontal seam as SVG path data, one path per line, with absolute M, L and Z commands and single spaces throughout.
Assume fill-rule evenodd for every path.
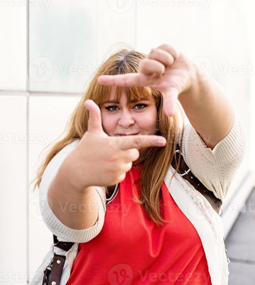
M 0 96 L 0 268 L 4 284 L 26 284 L 26 113 L 26 96 Z

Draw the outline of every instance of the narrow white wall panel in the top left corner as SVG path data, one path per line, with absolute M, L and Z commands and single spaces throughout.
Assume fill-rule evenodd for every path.
M 26 90 L 26 5 L 7 3 L 0 4 L 0 90 Z

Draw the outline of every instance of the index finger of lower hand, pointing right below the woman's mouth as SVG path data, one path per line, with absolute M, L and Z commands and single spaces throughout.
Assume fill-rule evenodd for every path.
M 162 147 L 166 145 L 167 140 L 162 136 L 155 135 L 116 136 L 115 143 L 117 149 L 127 150 L 131 148 Z

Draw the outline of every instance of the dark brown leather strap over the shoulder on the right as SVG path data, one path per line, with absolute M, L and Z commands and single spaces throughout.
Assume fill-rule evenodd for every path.
M 180 147 L 177 144 L 176 145 L 176 150 L 179 150 Z M 176 159 L 178 161 L 180 153 L 176 153 Z M 172 161 L 172 166 L 174 169 L 176 169 L 176 163 L 175 160 L 173 159 Z M 184 161 L 183 156 L 181 155 L 181 159 L 180 159 L 180 167 L 179 167 L 179 172 L 180 174 L 183 174 L 186 172 L 188 172 L 189 167 L 187 166 L 187 164 Z M 212 191 L 208 190 L 202 183 L 201 181 L 199 181 L 196 176 L 189 171 L 187 174 L 185 174 L 184 176 L 182 176 L 183 179 L 189 181 L 189 183 L 194 186 L 194 188 L 196 188 L 196 190 L 198 190 L 202 195 L 205 196 L 205 198 L 207 199 L 207 201 L 211 204 L 211 206 L 213 207 L 213 209 L 219 213 L 220 211 L 220 206 L 222 205 L 222 202 L 220 199 L 216 198 L 213 194 Z

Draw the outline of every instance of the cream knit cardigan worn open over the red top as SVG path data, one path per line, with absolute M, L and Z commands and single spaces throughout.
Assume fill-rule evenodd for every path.
M 180 145 L 182 129 L 178 133 L 178 143 Z M 73 262 L 77 256 L 79 243 L 85 243 L 100 233 L 106 213 L 106 194 L 104 187 L 96 186 L 99 205 L 99 219 L 92 227 L 84 230 L 75 230 L 66 227 L 51 211 L 48 200 L 48 187 L 57 173 L 59 166 L 65 157 L 75 148 L 79 140 L 66 145 L 46 167 L 39 189 L 40 210 L 43 220 L 48 229 L 58 237 L 59 241 L 75 242 L 67 252 L 66 261 L 63 268 L 60 285 L 66 284 Z M 186 164 L 193 174 L 204 184 L 214 195 L 223 201 L 227 194 L 230 183 L 242 163 L 247 146 L 247 134 L 244 124 L 237 112 L 231 131 L 221 140 L 213 150 L 207 148 L 201 136 L 196 132 L 191 124 L 185 125 L 182 154 Z M 164 182 L 169 193 L 179 206 L 181 211 L 196 228 L 202 241 L 208 263 L 212 285 L 228 284 L 228 263 L 223 241 L 223 223 L 220 216 L 213 210 L 205 197 L 198 192 L 187 180 L 176 173 L 169 186 L 174 169 L 169 168 Z M 49 252 L 44 257 L 41 265 L 37 269 L 32 281 L 32 285 L 41 285 L 43 271 L 51 258 L 50 245 Z M 57 254 L 66 252 L 54 248 Z M 89 284 L 89 282 L 86 280 Z M 107 282 L 106 282 L 107 283 Z

